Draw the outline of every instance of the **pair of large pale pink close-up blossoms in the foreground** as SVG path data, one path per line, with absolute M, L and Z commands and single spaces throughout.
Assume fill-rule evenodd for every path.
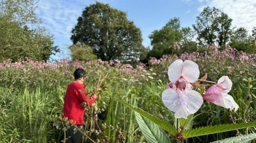
M 203 95 L 193 90 L 192 83 L 198 82 L 199 68 L 191 60 L 175 60 L 168 68 L 168 77 L 170 83 L 162 93 L 162 101 L 175 113 L 175 118 L 186 119 L 188 115 L 197 112 L 203 104 L 203 99 L 230 110 L 235 108 L 236 111 L 238 108 L 232 96 L 227 94 L 232 86 L 227 76 L 221 77 L 218 83 L 207 89 Z M 204 81 L 205 79 L 206 77 Z

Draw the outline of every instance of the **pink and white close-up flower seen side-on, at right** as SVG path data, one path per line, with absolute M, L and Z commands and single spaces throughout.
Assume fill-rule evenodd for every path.
M 232 82 L 228 76 L 222 76 L 219 78 L 218 83 L 212 85 L 209 89 L 206 90 L 203 99 L 209 102 L 212 102 L 218 106 L 224 108 L 230 108 L 237 111 L 239 106 L 234 101 L 233 97 L 228 95 L 232 87 Z

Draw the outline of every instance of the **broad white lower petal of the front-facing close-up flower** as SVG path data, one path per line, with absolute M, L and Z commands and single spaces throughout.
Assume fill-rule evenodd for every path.
M 202 96 L 195 90 L 166 89 L 162 93 L 165 106 L 173 111 L 175 118 L 187 118 L 203 104 Z

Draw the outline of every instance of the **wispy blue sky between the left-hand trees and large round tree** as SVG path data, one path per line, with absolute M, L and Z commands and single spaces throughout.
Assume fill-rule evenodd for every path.
M 77 18 L 81 16 L 83 9 L 94 0 L 40 0 L 36 11 L 38 18 L 42 20 L 42 26 L 54 35 L 54 43 L 61 53 L 53 55 L 53 59 L 69 58 L 67 46 L 70 40 L 71 30 L 77 24 Z

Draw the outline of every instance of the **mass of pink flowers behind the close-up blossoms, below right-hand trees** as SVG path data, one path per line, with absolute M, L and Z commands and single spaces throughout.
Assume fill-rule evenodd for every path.
M 247 54 L 237 51 L 230 46 L 223 50 L 209 46 L 209 51 L 203 53 L 183 53 L 177 55 L 164 55 L 160 59 L 151 58 L 149 65 L 155 70 L 159 77 L 164 77 L 162 71 L 166 71 L 170 63 L 176 59 L 192 60 L 199 66 L 199 70 L 211 75 L 211 80 L 218 80 L 222 75 L 228 75 L 234 79 L 234 83 L 243 80 L 244 77 L 251 77 L 256 72 L 256 54 Z

